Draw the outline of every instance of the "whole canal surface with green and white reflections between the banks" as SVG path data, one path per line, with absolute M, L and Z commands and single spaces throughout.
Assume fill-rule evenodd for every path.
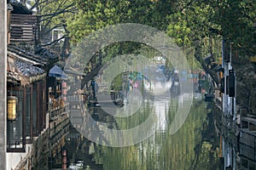
M 214 101 L 205 101 L 203 94 L 195 92 L 170 97 L 167 82 L 158 81 L 152 88 L 158 93 L 151 95 L 144 91 L 140 96 L 132 90 L 131 98 L 120 106 L 123 110 L 117 109 L 114 115 L 107 113 L 113 103 L 106 103 L 104 99 L 102 103 L 98 99 L 99 104 L 92 102 L 86 106 L 90 115 L 86 119 L 92 118 L 95 122 L 78 126 L 71 121 L 67 134 L 50 150 L 49 169 L 256 168 L 255 150 L 237 143 L 237 134 L 221 126 L 221 113 L 215 111 Z M 183 114 L 181 108 L 187 108 L 191 101 L 188 114 Z M 137 108 L 131 110 L 135 114 L 120 116 L 130 111 L 127 105 Z M 143 122 L 151 126 L 139 127 Z M 141 128 L 137 133 L 104 132 L 107 128 L 122 131 L 137 126 Z

